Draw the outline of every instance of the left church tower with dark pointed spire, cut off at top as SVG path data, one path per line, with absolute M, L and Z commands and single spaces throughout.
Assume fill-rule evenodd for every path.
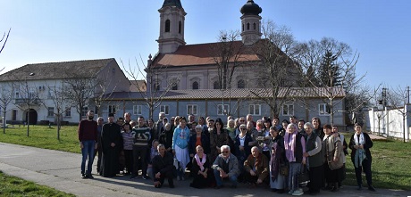
M 164 0 L 160 12 L 160 37 L 158 37 L 158 52 L 173 53 L 184 41 L 184 20 L 186 12 L 180 0 Z

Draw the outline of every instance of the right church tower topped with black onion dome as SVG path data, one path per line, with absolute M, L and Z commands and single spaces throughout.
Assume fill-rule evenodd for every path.
M 253 45 L 261 39 L 261 16 L 263 9 L 253 0 L 248 0 L 240 12 L 241 16 L 241 38 L 244 45 Z

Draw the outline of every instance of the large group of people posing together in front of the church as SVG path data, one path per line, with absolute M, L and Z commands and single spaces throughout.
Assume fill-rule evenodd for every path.
M 320 193 L 320 189 L 339 191 L 345 179 L 348 148 L 355 166 L 358 190 L 362 189 L 364 170 L 368 189 L 372 185 L 370 148 L 373 142 L 362 127 L 355 125 L 355 134 L 349 144 L 338 127 L 321 125 L 319 118 L 306 122 L 291 116 L 280 119 L 253 120 L 251 115 L 233 119 L 228 117 L 224 127 L 222 119 L 194 115 L 172 117 L 169 121 L 160 112 L 158 121 L 130 113 L 114 122 L 113 114 L 103 124 L 103 118 L 93 120 L 94 112 L 79 124 L 82 152 L 81 177 L 93 178 L 91 166 L 98 152 L 97 172 L 101 176 L 116 176 L 121 171 L 130 178 L 141 176 L 152 179 L 155 187 L 173 188 L 173 178 L 185 180 L 186 169 L 194 188 L 224 187 L 228 179 L 232 188 L 238 183 L 250 187 L 265 185 L 273 192 L 301 195 L 299 176 L 309 177 L 307 193 Z M 86 161 L 88 168 L 86 170 Z

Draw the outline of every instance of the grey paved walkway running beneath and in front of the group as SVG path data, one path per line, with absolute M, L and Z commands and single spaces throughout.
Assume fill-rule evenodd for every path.
M 96 175 L 95 179 L 81 179 L 80 161 L 80 154 L 0 143 L 0 170 L 5 174 L 77 196 L 290 196 L 272 193 L 265 188 L 250 189 L 247 185 L 239 185 L 235 190 L 223 188 L 218 192 L 214 189 L 193 189 L 189 187 L 189 180 L 175 181 L 174 189 L 167 185 L 156 189 L 149 180 L 130 180 L 129 176 L 105 178 Z M 317 196 L 411 196 L 411 192 L 377 188 L 377 192 L 373 193 L 366 189 L 356 191 L 355 187 L 344 186 L 339 193 L 322 191 Z

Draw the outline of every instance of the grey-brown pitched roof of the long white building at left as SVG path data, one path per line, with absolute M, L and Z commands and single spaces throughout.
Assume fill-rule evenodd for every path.
M 114 58 L 26 64 L 0 75 L 0 81 L 21 80 L 21 78 L 27 80 L 93 78 L 111 62 L 115 62 Z

